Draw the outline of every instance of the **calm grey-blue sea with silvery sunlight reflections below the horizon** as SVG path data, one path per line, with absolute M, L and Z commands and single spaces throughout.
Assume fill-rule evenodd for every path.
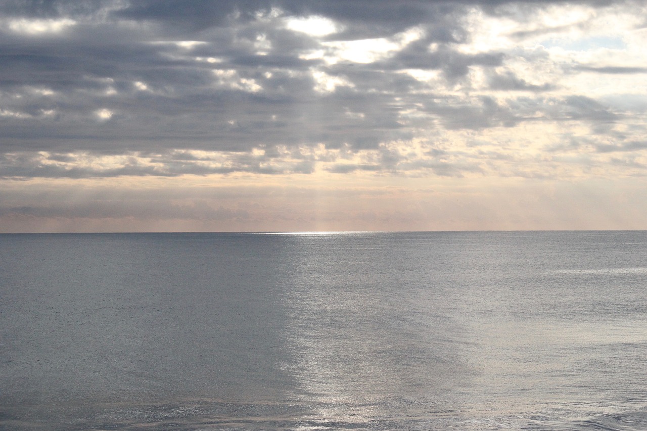
M 647 232 L 0 235 L 0 429 L 647 429 L 646 288 Z

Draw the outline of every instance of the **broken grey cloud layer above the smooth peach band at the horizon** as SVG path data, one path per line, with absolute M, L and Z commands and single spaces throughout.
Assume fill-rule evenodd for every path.
M 642 178 L 645 16 L 644 1 L 6 0 L 0 178 Z

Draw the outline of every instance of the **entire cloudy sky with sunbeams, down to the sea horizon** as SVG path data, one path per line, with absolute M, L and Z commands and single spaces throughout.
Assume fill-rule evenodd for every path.
M 0 232 L 647 229 L 647 1 L 0 0 Z

